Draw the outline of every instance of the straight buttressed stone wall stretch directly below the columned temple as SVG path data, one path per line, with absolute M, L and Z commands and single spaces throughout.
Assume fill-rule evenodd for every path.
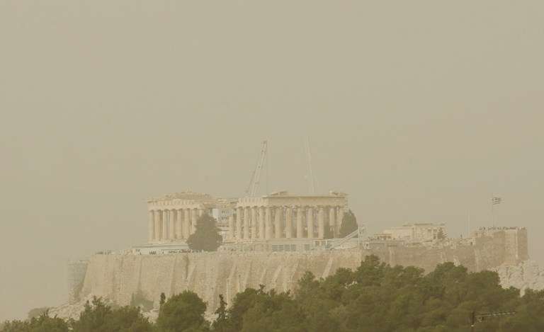
M 94 294 L 129 304 L 141 292 L 157 301 L 192 290 L 215 309 L 219 294 L 229 302 L 247 287 L 292 290 L 305 271 L 327 277 L 340 267 L 356 268 L 360 251 L 319 253 L 181 253 L 174 255 L 95 255 L 89 260 L 81 296 Z

